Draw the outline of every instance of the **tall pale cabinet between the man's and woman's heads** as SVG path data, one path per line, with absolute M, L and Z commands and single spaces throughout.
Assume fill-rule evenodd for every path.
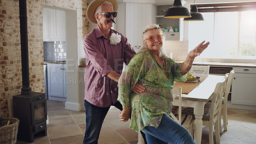
M 156 9 L 151 3 L 118 3 L 116 30 L 128 39 L 134 51 L 142 47 L 142 32 L 148 24 L 155 24 Z M 124 29 L 125 28 L 125 29 Z

